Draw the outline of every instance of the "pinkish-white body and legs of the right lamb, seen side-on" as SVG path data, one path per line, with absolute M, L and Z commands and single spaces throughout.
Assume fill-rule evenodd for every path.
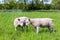
M 50 32 L 53 32 L 53 19 L 51 18 L 32 18 L 30 23 L 35 27 L 36 32 L 38 33 L 40 27 L 47 27 Z

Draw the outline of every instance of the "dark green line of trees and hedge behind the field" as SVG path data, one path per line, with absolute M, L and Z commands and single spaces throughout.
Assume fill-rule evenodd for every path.
M 35 1 L 35 3 L 34 3 Z M 9 4 L 0 4 L 0 9 L 23 9 L 23 10 L 49 10 L 60 9 L 60 0 L 55 1 L 52 4 L 42 4 L 39 0 L 32 0 L 31 4 L 9 1 Z

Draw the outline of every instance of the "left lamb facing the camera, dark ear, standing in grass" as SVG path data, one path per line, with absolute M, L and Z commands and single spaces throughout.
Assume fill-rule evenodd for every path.
M 29 24 L 30 22 L 28 17 L 18 17 L 14 20 L 15 30 L 18 26 L 21 26 L 23 28 L 23 26 L 28 27 Z

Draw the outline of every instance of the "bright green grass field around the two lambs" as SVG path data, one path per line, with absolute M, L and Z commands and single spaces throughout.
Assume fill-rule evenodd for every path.
M 56 32 L 50 33 L 47 28 L 41 28 L 36 34 L 32 25 L 28 31 L 21 31 L 20 28 L 15 31 L 14 19 L 21 16 L 52 18 Z M 60 11 L 0 11 L 0 40 L 60 40 Z

